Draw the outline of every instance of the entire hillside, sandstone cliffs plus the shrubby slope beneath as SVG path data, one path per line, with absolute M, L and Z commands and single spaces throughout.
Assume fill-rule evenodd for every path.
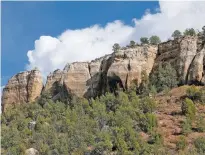
M 205 154 L 205 39 L 113 46 L 3 89 L 5 155 Z

